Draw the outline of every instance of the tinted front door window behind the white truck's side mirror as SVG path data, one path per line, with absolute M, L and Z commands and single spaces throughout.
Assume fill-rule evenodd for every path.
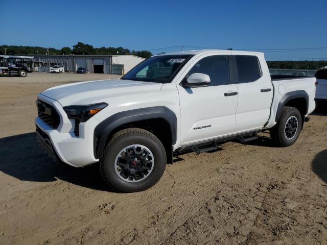
M 229 84 L 229 63 L 227 55 L 208 56 L 198 61 L 188 76 L 203 73 L 210 77 L 209 86 Z

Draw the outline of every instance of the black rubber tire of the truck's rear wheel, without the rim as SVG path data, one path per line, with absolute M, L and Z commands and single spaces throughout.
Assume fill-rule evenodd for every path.
M 297 119 L 297 130 L 294 136 L 289 139 L 286 136 L 285 127 L 286 124 L 288 123 L 289 118 L 292 116 L 296 117 Z M 297 140 L 298 136 L 300 135 L 302 123 L 303 123 L 302 116 L 299 110 L 294 107 L 285 106 L 283 108 L 281 117 L 277 121 L 277 124 L 270 129 L 271 140 L 274 142 L 274 144 L 281 147 L 286 147 L 294 144 L 294 142 Z

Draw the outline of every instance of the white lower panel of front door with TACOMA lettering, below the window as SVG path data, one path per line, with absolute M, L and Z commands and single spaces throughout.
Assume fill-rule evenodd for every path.
M 224 93 L 237 91 L 235 84 L 186 89 L 178 86 L 182 144 L 233 133 L 238 96 Z

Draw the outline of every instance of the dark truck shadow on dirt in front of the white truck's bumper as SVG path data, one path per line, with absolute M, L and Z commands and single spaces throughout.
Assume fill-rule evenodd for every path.
M 22 181 L 51 182 L 61 179 L 96 190 L 110 191 L 98 164 L 76 168 L 55 162 L 40 148 L 35 133 L 0 139 L 0 171 Z

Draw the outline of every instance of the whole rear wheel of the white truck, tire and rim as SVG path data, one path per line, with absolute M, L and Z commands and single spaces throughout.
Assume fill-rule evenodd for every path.
M 302 128 L 302 116 L 298 109 L 285 106 L 277 124 L 270 129 L 270 138 L 278 146 L 294 144 Z

